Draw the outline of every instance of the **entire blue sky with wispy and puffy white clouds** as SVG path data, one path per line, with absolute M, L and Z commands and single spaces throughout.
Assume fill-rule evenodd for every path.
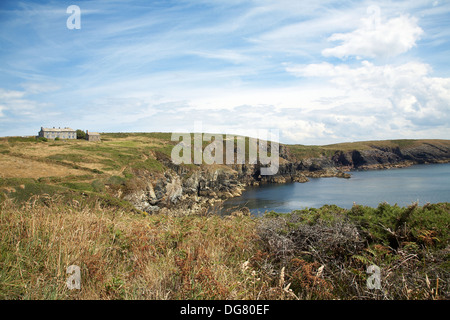
M 0 136 L 449 139 L 449 57 L 448 0 L 2 0 Z

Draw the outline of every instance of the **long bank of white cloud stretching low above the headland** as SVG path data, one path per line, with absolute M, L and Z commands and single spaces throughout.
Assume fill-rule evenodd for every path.
M 126 90 L 126 95 L 109 90 L 107 101 L 100 99 L 83 111 L 83 121 L 101 114 L 96 126 L 120 124 L 121 130 L 132 131 L 192 131 L 195 121 L 203 121 L 207 132 L 279 129 L 282 142 L 303 144 L 442 137 L 447 130 L 450 79 L 432 77 L 427 64 L 324 62 L 285 70 L 307 81 L 282 88 L 172 86 L 171 91 L 157 90 L 161 95 L 146 92 L 143 81 L 142 88 Z

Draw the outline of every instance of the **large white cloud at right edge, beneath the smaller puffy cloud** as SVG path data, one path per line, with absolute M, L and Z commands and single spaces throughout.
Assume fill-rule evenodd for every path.
M 366 115 L 377 115 L 398 127 L 401 119 L 410 125 L 448 124 L 450 78 L 431 77 L 430 66 L 409 62 L 377 66 L 363 61 L 358 67 L 330 63 L 290 66 L 286 70 L 300 77 L 320 77 L 347 96 L 342 108 L 359 103 Z M 350 109 L 351 110 L 351 109 Z

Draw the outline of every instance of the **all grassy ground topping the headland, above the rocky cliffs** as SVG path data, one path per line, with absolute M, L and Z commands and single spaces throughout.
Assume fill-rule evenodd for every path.
M 331 156 L 337 150 L 365 150 L 374 146 L 408 148 L 429 141 L 365 141 L 326 146 L 288 145 L 288 148 L 295 158 L 303 159 Z M 450 145 L 450 140 L 432 142 Z M 158 159 L 170 161 L 176 143 L 171 141 L 170 133 L 106 133 L 99 143 L 0 138 L 0 198 L 7 194 L 21 202 L 42 194 L 65 195 L 70 199 L 92 195 L 128 208 L 129 204 L 118 199 L 119 190 L 138 188 L 135 176 L 142 170 L 164 172 L 167 162 Z M 206 145 L 208 142 L 203 142 L 203 147 Z M 248 139 L 246 151 L 248 153 Z M 195 165 L 185 166 L 188 170 L 196 168 Z

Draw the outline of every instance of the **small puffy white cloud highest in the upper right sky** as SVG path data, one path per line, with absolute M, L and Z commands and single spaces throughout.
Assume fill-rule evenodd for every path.
M 368 8 L 369 17 L 361 19 L 361 26 L 349 33 L 335 33 L 328 40 L 342 41 L 341 45 L 322 51 L 326 57 L 389 58 L 407 52 L 424 33 L 417 19 L 406 15 L 382 21 L 380 9 Z

